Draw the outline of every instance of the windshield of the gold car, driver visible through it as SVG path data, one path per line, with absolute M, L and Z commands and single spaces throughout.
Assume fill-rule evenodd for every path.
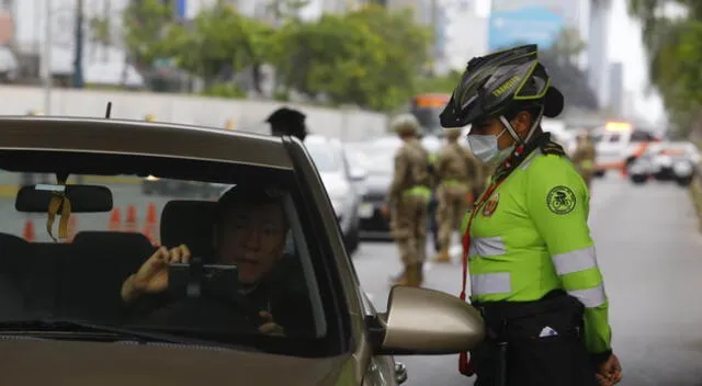
M 296 356 L 338 339 L 292 171 L 25 155 L 0 149 L 0 334 L 18 321 L 65 328 L 48 318 Z M 78 171 L 63 185 L 66 170 Z

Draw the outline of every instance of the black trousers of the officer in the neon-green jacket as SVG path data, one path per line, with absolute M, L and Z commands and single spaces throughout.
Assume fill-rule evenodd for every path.
M 487 327 L 486 341 L 471 352 L 477 374 L 475 385 L 598 385 L 582 342 L 584 307 L 574 297 L 554 292 L 537 302 L 496 302 L 475 307 Z M 551 330 L 555 334 L 550 334 Z

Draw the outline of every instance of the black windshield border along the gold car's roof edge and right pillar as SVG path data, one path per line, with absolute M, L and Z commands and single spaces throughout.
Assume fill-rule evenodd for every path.
M 8 155 L 15 155 L 19 160 L 26 160 L 26 155 L 43 152 L 42 157 L 30 158 L 26 161 L 26 168 L 16 169 L 16 168 L 5 168 L 7 164 L 3 164 L 2 161 L 9 162 L 7 160 Z M 4 156 L 4 157 L 3 157 Z M 48 158 L 47 158 L 48 157 Z M 66 158 L 64 163 L 56 162 L 56 159 Z M 251 179 L 256 174 L 262 174 L 264 171 L 267 179 L 269 181 L 275 181 L 271 183 L 271 186 L 285 186 L 287 195 L 293 200 L 297 219 L 299 224 L 302 224 L 302 229 L 304 234 L 304 242 L 308 247 L 308 257 L 309 262 L 314 266 L 314 277 L 317 282 L 317 293 L 320 295 L 320 299 L 322 302 L 322 309 L 326 317 L 327 323 L 327 333 L 322 338 L 315 339 L 315 343 L 319 343 L 316 348 L 314 354 L 299 354 L 299 352 L 285 352 L 285 350 L 276 350 L 282 351 L 281 354 L 287 354 L 299 357 L 329 357 L 335 356 L 341 353 L 347 352 L 348 343 L 346 342 L 346 333 L 347 330 L 341 328 L 337 328 L 339 325 L 340 315 L 339 314 L 339 302 L 337 297 L 325 298 L 325 294 L 331 292 L 336 294 L 336 283 L 330 282 L 333 276 L 330 276 L 329 270 L 327 268 L 327 260 L 325 259 L 325 253 L 319 248 L 314 248 L 317 242 L 319 242 L 319 229 L 313 226 L 313 220 L 309 218 L 309 208 L 313 209 L 315 205 L 310 205 L 309 201 L 306 200 L 306 195 L 308 192 L 305 191 L 306 186 L 301 184 L 299 182 L 299 173 L 294 169 L 278 169 L 271 168 L 268 166 L 261 164 L 250 164 L 244 162 L 223 162 L 217 160 L 203 160 L 203 159 L 188 159 L 188 158 L 177 158 L 170 156 L 156 156 L 156 155 L 144 155 L 144 154 L 132 154 L 132 152 L 95 152 L 95 151 L 68 151 L 68 150 L 55 150 L 55 149 L 16 149 L 16 148 L 2 148 L 0 146 L 0 168 L 3 170 L 8 170 L 11 172 L 37 172 L 37 173 L 54 173 L 54 171 L 46 171 L 46 166 L 55 166 L 55 164 L 67 164 L 60 166 L 57 169 L 69 168 L 69 166 L 73 166 L 78 168 L 75 173 L 76 174 L 95 174 L 100 175 L 97 171 L 100 168 L 97 168 L 95 162 L 86 162 L 86 159 L 98 159 L 98 160 L 110 160 L 110 166 L 104 167 L 101 170 L 104 170 L 104 174 L 102 175 L 112 175 L 110 172 L 115 169 L 124 168 L 125 172 L 123 175 L 134 175 L 134 177 L 145 177 L 145 175 L 154 175 L 157 174 L 159 178 L 171 178 L 178 180 L 190 180 L 190 181 L 199 181 L 199 182 L 207 182 L 207 183 L 227 183 L 227 184 L 241 184 L 240 181 L 256 181 L 253 184 L 259 184 L 259 181 L 263 180 L 261 175 Z M 41 160 L 38 160 L 41 159 Z M 125 160 L 129 159 L 128 162 Z M 47 160 L 49 160 L 47 162 Z M 120 167 L 115 167 L 114 164 L 120 163 L 120 161 L 124 162 Z M 150 162 L 149 162 L 150 161 Z M 150 167 L 149 167 L 150 164 Z M 192 164 L 195 164 L 193 167 Z M 168 166 L 168 167 L 165 167 Z M 44 169 L 37 169 L 44 168 Z M 82 168 L 82 169 L 80 169 Z M 168 170 L 167 170 L 168 169 Z M 90 170 L 90 171 L 84 171 Z M 144 175 L 141 175 L 144 174 Z M 192 175 L 192 177 L 190 177 Z M 233 183 L 231 179 L 224 179 L 224 175 L 236 175 L 238 181 Z M 211 178 L 212 177 L 212 178 Z M 286 181 L 287 180 L 287 181 Z M 262 181 L 261 181 L 262 182 Z M 298 205 L 303 205 L 303 208 L 298 209 Z M 308 229 L 308 231 L 307 231 Z M 333 270 L 332 270 L 333 272 Z M 325 280 L 320 280 L 324 277 Z M 307 277 L 305 277 L 307 284 Z M 309 294 L 310 295 L 310 294 Z M 312 300 L 312 299 L 310 299 Z M 343 308 L 342 308 L 343 309 Z M 346 309 L 344 309 L 346 310 Z M 274 342 L 278 340 L 281 347 L 285 347 L 286 343 L 280 341 L 280 338 L 271 338 L 271 337 L 250 337 L 251 341 L 271 341 Z M 296 339 L 290 339 L 291 342 L 295 342 Z M 308 342 L 309 343 L 309 342 Z M 226 342 L 222 342 L 223 345 L 227 344 Z

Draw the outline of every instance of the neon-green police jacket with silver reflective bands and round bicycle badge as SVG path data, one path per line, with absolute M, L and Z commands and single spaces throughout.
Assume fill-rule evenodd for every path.
M 471 299 L 529 302 L 565 290 L 586 307 L 588 351 L 611 350 L 589 194 L 570 160 L 537 148 L 483 202 L 469 229 Z

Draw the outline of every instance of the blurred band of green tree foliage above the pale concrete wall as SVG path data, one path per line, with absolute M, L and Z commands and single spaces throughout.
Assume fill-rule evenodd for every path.
M 294 15 L 306 2 L 271 0 L 282 21 L 273 27 L 223 2 L 181 25 L 159 0 L 133 1 L 124 15 L 125 37 L 137 64 L 152 67 L 172 59 L 203 79 L 207 93 L 225 92 L 216 84 L 229 84 L 247 69 L 260 90 L 263 64 L 275 69 L 276 98 L 288 98 L 294 90 L 332 105 L 390 111 L 417 92 L 449 87 L 449 80 L 440 87 L 437 79 L 418 78 L 429 60 L 431 34 L 414 23 L 411 12 L 365 7 L 303 22 Z

